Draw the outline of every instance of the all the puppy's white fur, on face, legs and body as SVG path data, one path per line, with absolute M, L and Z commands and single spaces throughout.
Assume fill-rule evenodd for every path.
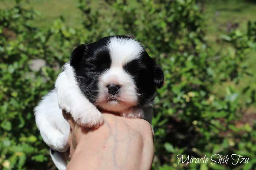
M 152 108 L 138 107 L 138 94 L 135 83 L 123 69 L 124 64 L 139 57 L 143 52 L 142 45 L 133 39 L 112 37 L 108 48 L 111 66 L 99 78 L 98 98 L 96 104 L 104 110 L 119 112 L 122 116 L 144 118 L 151 122 Z M 108 84 L 121 86 L 117 101 L 106 100 Z M 75 80 L 75 73 L 69 63 L 64 64 L 55 83 L 55 90 L 49 92 L 35 108 L 35 120 L 45 143 L 52 149 L 64 152 L 68 150 L 69 124 L 63 118 L 61 109 L 71 113 L 74 120 L 86 127 L 98 127 L 103 123 L 101 112 L 83 95 Z M 144 111 L 147 115 L 144 115 Z M 61 154 L 51 157 L 59 169 L 65 169 Z

